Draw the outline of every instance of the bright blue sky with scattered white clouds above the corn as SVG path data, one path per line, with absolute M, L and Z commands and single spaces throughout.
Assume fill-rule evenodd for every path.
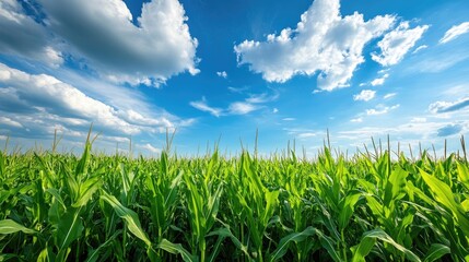
M 157 155 L 295 141 L 452 151 L 469 130 L 466 0 L 3 0 L 0 144 Z M 242 142 L 241 142 L 242 141 Z

